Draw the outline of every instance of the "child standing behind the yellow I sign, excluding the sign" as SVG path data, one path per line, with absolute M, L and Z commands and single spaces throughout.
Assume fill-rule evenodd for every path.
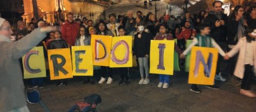
M 168 26 L 165 24 L 161 24 L 159 28 L 160 35 L 157 35 L 155 37 L 155 40 L 173 40 L 171 34 L 167 34 Z M 180 55 L 182 53 L 182 50 L 177 46 L 177 44 L 174 44 L 175 51 Z M 168 88 L 170 83 L 169 75 L 159 75 L 159 83 L 158 88 Z

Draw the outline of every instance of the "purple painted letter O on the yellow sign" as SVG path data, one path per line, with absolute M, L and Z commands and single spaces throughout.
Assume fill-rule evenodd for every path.
M 116 48 L 119 46 L 119 45 L 124 45 L 125 49 L 126 49 L 126 52 L 125 52 L 125 55 L 124 55 L 124 58 L 122 60 L 119 60 L 116 58 L 116 55 L 115 55 L 115 50 Z M 116 64 L 126 64 L 128 61 L 129 61 L 129 45 L 127 44 L 127 42 L 125 42 L 124 40 L 121 40 L 121 41 L 118 41 L 114 46 L 113 46 L 113 49 L 111 51 L 111 54 L 112 54 L 112 57 L 111 57 L 111 60 L 113 62 L 115 62 Z

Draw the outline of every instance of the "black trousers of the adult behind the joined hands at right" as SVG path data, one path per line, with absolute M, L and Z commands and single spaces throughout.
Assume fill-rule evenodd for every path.
M 231 51 L 231 48 L 227 48 L 227 51 Z M 235 54 L 232 58 L 228 60 L 228 69 L 230 76 L 234 75 L 234 71 L 237 65 L 238 54 L 239 53 Z

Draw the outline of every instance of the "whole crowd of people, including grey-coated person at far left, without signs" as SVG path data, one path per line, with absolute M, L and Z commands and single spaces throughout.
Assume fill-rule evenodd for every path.
M 148 12 L 143 15 L 141 11 L 137 11 L 134 17 L 133 11 L 128 11 L 127 16 L 110 14 L 109 20 L 98 20 L 94 23 L 86 17 L 83 20 L 74 19 L 72 13 L 68 13 L 67 20 L 60 19 L 55 24 L 57 30 L 45 21 L 38 21 L 32 18 L 25 27 L 23 21 L 17 22 L 16 30 L 13 32 L 8 21 L 0 18 L 0 82 L 9 83 L 2 88 L 4 96 L 14 94 L 19 96 L 22 86 L 14 88 L 13 83 L 22 82 L 17 79 L 21 78 L 21 70 L 18 61 L 21 57 L 34 46 L 44 46 L 44 55 L 47 58 L 47 49 L 69 48 L 70 46 L 86 46 L 91 44 L 92 35 L 105 36 L 132 36 L 134 38 L 133 55 L 137 59 L 141 79 L 139 85 L 147 85 L 149 79 L 148 59 L 150 57 L 150 40 L 173 40 L 177 39 L 174 50 L 178 53 L 180 59 L 184 59 L 185 55 L 193 46 L 214 47 L 219 51 L 217 63 L 216 80 L 226 81 L 222 77 L 224 71 L 221 64 L 225 63 L 226 71 L 229 73 L 228 83 L 233 86 L 241 86 L 240 93 L 248 97 L 256 97 L 256 94 L 250 91 L 250 87 L 255 78 L 256 69 L 256 6 L 249 8 L 236 6 L 232 13 L 227 16 L 223 13 L 222 2 L 215 1 L 212 11 L 200 11 L 198 15 L 191 15 L 184 12 L 181 16 L 174 17 L 166 13 L 161 18 Z M 39 28 L 39 29 L 38 29 Z M 49 32 L 51 31 L 51 32 Z M 49 32 L 49 33 L 47 33 Z M 46 35 L 47 33 L 47 35 Z M 45 37 L 45 38 L 43 38 Z M 186 40 L 192 40 L 192 43 L 186 48 Z M 15 41 L 15 42 L 11 42 Z M 239 53 L 238 53 L 239 52 Z M 223 57 L 223 58 L 222 58 Z M 227 60 L 227 61 L 225 61 Z M 17 68 L 17 70 L 9 70 L 9 68 Z M 119 85 L 130 85 L 130 69 L 131 68 L 110 68 L 105 66 L 94 66 L 94 75 L 100 75 L 99 84 L 107 81 L 111 84 L 113 81 L 113 73 L 120 75 Z M 6 74 L 6 75 L 2 75 Z M 16 75 L 14 75 L 16 74 Z M 3 76 L 3 77 L 2 77 Z M 6 81 L 8 78 L 10 81 Z M 43 78 L 32 78 L 30 88 L 44 88 Z M 87 76 L 85 83 L 94 85 L 95 79 Z M 169 75 L 159 75 L 159 83 L 157 87 L 168 88 L 170 84 Z M 58 80 L 57 86 L 67 86 L 68 80 Z M 205 86 L 209 89 L 219 89 L 219 87 Z M 9 89 L 9 90 L 8 90 Z M 11 90 L 10 90 L 11 89 Z M 1 90 L 1 91 L 2 91 Z M 197 85 L 191 85 L 190 91 L 201 93 Z M 2 93 L 1 93 L 2 94 Z M 3 96 L 3 94 L 1 96 Z M 0 96 L 0 103 L 3 98 Z M 23 97 L 11 97 L 5 102 L 7 106 L 14 103 L 17 99 L 24 100 Z M 21 104 L 22 103 L 22 104 Z M 24 102 L 15 103 L 17 107 L 22 107 Z M 27 106 L 26 106 L 27 107 Z M 27 109 L 26 107 L 22 109 Z M 0 106 L 0 108 L 2 108 Z M 4 105 L 4 111 L 5 107 Z M 10 107 L 12 108 L 12 107 Z M 14 107 L 13 107 L 14 108 Z M 0 109 L 1 110 L 1 109 Z M 7 110 L 7 109 L 6 109 Z

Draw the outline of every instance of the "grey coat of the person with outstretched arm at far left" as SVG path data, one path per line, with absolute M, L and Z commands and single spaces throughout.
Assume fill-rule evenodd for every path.
M 46 34 L 39 29 L 16 42 L 0 36 L 0 111 L 10 111 L 27 105 L 18 59 L 44 37 Z

